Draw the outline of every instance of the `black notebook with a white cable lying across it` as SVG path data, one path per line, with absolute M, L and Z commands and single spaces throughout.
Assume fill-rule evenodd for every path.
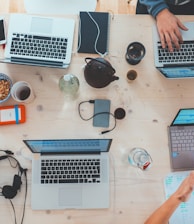
M 89 12 L 92 18 L 99 26 L 98 28 L 88 12 L 80 12 L 78 52 L 91 54 L 104 54 L 108 51 L 108 31 L 109 31 L 109 13 L 108 12 Z M 98 37 L 95 50 L 95 41 Z

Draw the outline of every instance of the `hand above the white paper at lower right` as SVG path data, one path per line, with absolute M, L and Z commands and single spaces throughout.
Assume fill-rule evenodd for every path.
M 179 188 L 175 191 L 174 195 L 181 202 L 189 199 L 192 191 L 194 190 L 194 171 L 192 171 L 187 178 L 181 183 Z

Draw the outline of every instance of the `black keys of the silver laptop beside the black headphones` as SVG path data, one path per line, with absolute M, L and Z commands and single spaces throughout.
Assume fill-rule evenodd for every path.
M 41 183 L 99 183 L 100 159 L 41 161 Z

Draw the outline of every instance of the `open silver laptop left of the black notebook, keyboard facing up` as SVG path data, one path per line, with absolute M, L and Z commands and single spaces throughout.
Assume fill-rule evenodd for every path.
M 11 14 L 5 62 L 67 68 L 74 27 L 73 19 Z

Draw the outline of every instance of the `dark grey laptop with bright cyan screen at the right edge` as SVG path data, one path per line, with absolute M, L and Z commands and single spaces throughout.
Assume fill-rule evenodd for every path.
M 168 129 L 172 170 L 194 169 L 194 108 L 180 109 Z

